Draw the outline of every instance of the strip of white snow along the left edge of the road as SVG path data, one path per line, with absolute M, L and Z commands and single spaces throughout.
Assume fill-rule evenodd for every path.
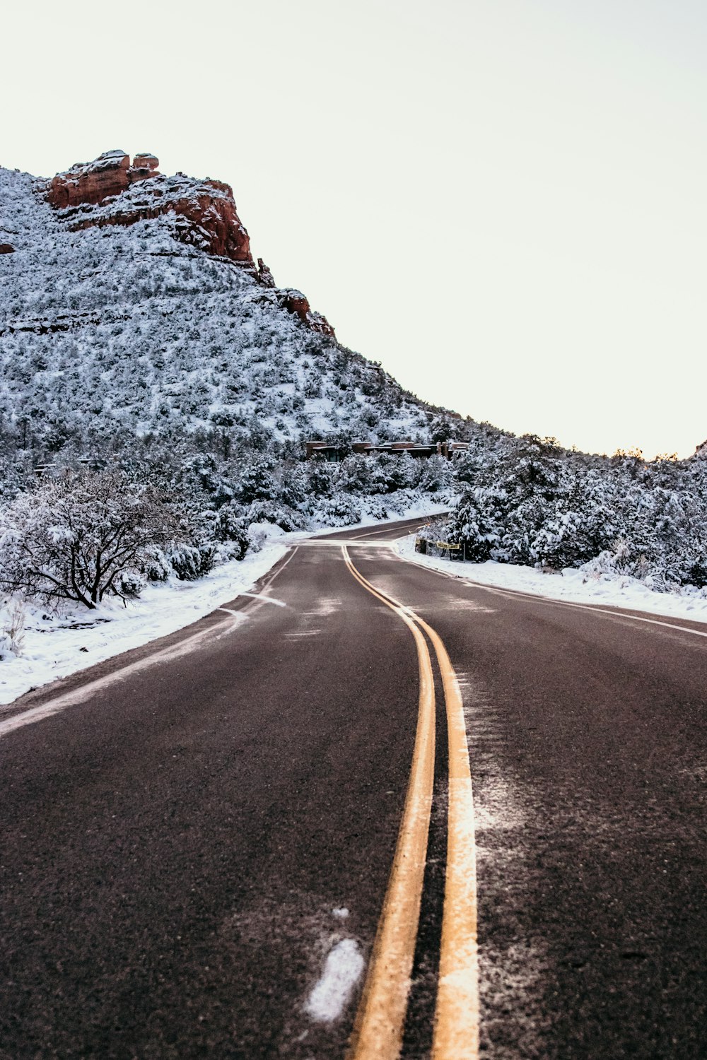
M 420 500 L 393 519 L 436 515 L 446 507 Z M 356 526 L 390 522 L 367 518 Z M 121 652 L 183 629 L 238 594 L 247 593 L 284 555 L 287 547 L 312 536 L 302 532 L 285 534 L 269 524 L 253 525 L 251 530 L 262 543 L 260 551 L 248 552 L 244 560 L 224 563 L 196 582 L 175 579 L 164 584 L 148 584 L 140 599 L 129 601 L 127 606 L 111 600 L 90 612 L 76 604 L 65 610 L 60 617 L 45 617 L 46 610 L 28 606 L 24 630 L 18 634 L 21 638 L 19 656 L 0 657 L 0 705 L 12 703 L 24 692 L 58 677 L 86 670 Z M 331 533 L 332 528 L 317 532 Z M 3 618 L 6 623 L 7 618 Z

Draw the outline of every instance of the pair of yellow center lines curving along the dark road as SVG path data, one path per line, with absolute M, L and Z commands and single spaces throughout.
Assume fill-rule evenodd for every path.
M 420 703 L 412 768 L 395 856 L 378 921 L 349 1060 L 395 1060 L 400 1055 L 414 956 L 435 778 L 435 682 L 427 642 L 442 676 L 449 744 L 449 806 L 434 1060 L 477 1060 L 479 989 L 476 938 L 474 798 L 459 684 L 439 636 L 419 615 L 382 593 L 354 567 L 356 581 L 408 626 L 420 669 Z

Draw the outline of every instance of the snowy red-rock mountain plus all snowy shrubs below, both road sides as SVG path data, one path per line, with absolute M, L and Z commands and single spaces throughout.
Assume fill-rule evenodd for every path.
M 0 169 L 0 658 L 25 599 L 43 622 L 47 600 L 197 580 L 276 525 L 413 508 L 453 506 L 429 529 L 445 554 L 707 595 L 706 460 L 568 452 L 427 405 L 276 287 L 227 184 L 158 165 Z M 449 438 L 467 452 L 353 446 Z M 344 459 L 305 460 L 314 439 Z

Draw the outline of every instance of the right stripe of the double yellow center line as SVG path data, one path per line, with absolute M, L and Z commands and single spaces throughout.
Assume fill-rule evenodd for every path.
M 355 568 L 352 569 L 354 573 Z M 355 570 L 370 591 L 379 590 Z M 442 915 L 440 972 L 432 1041 L 434 1060 L 477 1060 L 479 1055 L 479 968 L 477 944 L 474 795 L 466 726 L 457 675 L 439 634 L 410 607 L 386 599 L 402 617 L 427 633 L 437 655 L 446 704 L 449 746 L 447 859 Z

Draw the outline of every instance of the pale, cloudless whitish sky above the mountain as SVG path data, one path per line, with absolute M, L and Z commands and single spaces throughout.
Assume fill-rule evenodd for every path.
M 2 38 L 0 164 L 152 151 L 420 396 L 707 437 L 704 0 L 6 0 Z

